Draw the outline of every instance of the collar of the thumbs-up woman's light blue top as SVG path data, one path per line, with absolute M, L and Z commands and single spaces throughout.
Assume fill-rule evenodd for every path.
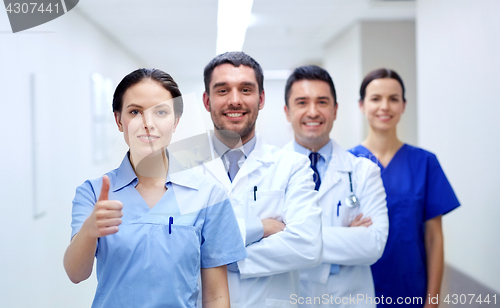
M 193 188 L 198 190 L 199 187 L 199 181 L 198 177 L 195 177 L 192 175 L 191 170 L 184 170 L 184 171 L 179 171 L 179 172 L 170 172 L 170 167 L 173 164 L 179 163 L 175 157 L 172 155 L 169 155 L 169 171 L 167 174 L 167 179 L 165 183 L 171 182 L 176 185 L 180 186 L 185 186 L 189 188 Z M 113 187 L 113 191 L 117 191 L 122 189 L 123 187 L 129 185 L 130 183 L 134 182 L 134 180 L 137 179 L 137 175 L 135 174 L 134 168 L 132 167 L 132 164 L 130 163 L 129 159 L 129 152 L 125 154 L 125 157 L 122 160 L 122 163 L 120 164 L 120 167 L 118 167 L 117 172 L 116 172 L 116 184 Z

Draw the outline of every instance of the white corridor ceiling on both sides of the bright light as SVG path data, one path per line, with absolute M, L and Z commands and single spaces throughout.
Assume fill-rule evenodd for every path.
M 83 0 L 76 10 L 143 65 L 183 79 L 199 79 L 215 56 L 217 0 Z M 243 51 L 264 70 L 292 69 L 319 63 L 358 21 L 414 19 L 414 1 L 254 0 Z

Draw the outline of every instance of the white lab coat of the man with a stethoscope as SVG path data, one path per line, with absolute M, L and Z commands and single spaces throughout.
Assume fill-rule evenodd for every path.
M 370 300 L 352 301 L 352 298 L 362 295 L 374 300 L 375 297 L 370 265 L 382 256 L 389 230 L 380 168 L 366 158 L 343 150 L 333 139 L 332 143 L 332 159 L 318 191 L 323 210 L 323 263 L 301 270 L 300 296 L 304 300 L 301 306 L 375 307 Z M 294 151 L 293 141 L 284 149 Z M 360 202 L 359 207 L 352 209 L 344 201 L 350 195 L 348 172 L 352 172 L 353 190 Z M 339 201 L 342 205 L 337 216 Z M 369 227 L 349 227 L 360 213 L 370 217 L 373 224 Z M 330 275 L 331 264 L 340 264 L 338 274 Z M 308 297 L 312 298 L 313 304 L 306 304 Z M 314 304 L 314 297 L 321 300 Z

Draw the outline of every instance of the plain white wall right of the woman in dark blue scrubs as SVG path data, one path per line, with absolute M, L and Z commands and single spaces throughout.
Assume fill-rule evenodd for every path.
M 500 292 L 500 2 L 417 1 L 418 127 L 462 206 L 444 218 L 446 259 Z

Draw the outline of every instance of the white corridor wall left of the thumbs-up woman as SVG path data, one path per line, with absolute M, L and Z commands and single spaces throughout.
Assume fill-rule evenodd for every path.
M 0 10 L 0 32 L 0 131 L 5 137 L 0 151 L 0 306 L 90 307 L 95 276 L 73 285 L 63 269 L 71 201 L 78 185 L 116 168 L 125 153 L 125 143 L 113 129 L 109 161 L 92 161 L 91 75 L 100 73 L 116 86 L 142 63 L 77 9 L 17 34 L 8 33 L 7 14 Z M 33 185 L 35 167 L 41 180 Z M 45 211 L 37 219 L 34 192 Z

